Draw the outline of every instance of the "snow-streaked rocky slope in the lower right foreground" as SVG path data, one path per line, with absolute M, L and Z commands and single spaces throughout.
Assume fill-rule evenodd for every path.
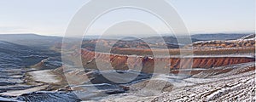
M 118 94 L 101 101 L 255 101 L 254 63 L 225 68 L 231 71 L 220 73 L 215 71 L 218 68 L 202 71 L 181 80 L 180 84 L 168 76 L 161 76 L 173 83 L 172 90 L 151 96 L 142 93 Z

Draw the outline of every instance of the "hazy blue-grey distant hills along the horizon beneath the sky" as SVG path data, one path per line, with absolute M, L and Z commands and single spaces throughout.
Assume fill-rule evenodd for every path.
M 216 33 L 216 34 L 195 34 L 191 37 L 180 37 L 180 38 L 191 38 L 192 42 L 198 41 L 211 41 L 211 40 L 234 40 L 241 37 L 246 37 L 249 34 L 230 34 L 230 33 Z M 51 36 L 43 36 L 34 33 L 20 33 L 20 34 L 0 34 L 0 41 L 4 42 L 12 42 L 20 45 L 26 45 L 35 48 L 50 48 L 55 45 L 55 43 L 61 43 L 63 37 L 51 37 Z M 97 39 L 96 37 L 84 37 L 84 40 L 88 38 Z M 118 39 L 119 37 L 109 36 L 102 37 L 102 39 Z M 122 37 L 122 40 L 127 41 L 137 41 L 135 37 Z M 177 38 L 172 36 L 164 36 L 164 37 L 143 37 L 140 38 L 145 42 L 149 43 L 163 43 L 162 40 L 169 43 L 170 45 L 177 45 Z M 78 39 L 73 39 L 77 41 Z M 119 39 L 121 40 L 121 39 Z M 190 41 L 190 40 L 189 40 Z M 191 42 L 190 41 L 190 42 Z M 187 44 L 187 43 L 179 43 L 179 44 Z

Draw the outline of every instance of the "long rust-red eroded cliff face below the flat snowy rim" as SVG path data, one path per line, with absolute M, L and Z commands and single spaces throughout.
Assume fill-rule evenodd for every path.
M 84 68 L 103 70 L 138 70 L 147 73 L 156 70 L 189 69 L 189 68 L 212 68 L 225 65 L 236 65 L 253 62 L 254 58 L 247 57 L 189 57 L 189 58 L 151 58 L 143 56 L 131 56 L 122 54 L 101 54 L 82 51 Z M 96 64 L 96 60 L 100 63 Z M 111 63 L 110 66 L 108 64 Z M 97 67 L 98 66 L 98 67 Z

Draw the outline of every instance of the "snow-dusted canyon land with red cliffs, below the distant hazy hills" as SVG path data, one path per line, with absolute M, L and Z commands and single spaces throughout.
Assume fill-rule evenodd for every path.
M 172 37 L 165 39 L 172 42 Z M 179 48 L 173 42 L 168 48 L 150 43 L 156 41 L 155 37 L 115 44 L 109 39 L 87 40 L 82 50 L 74 46 L 67 50 L 71 65 L 61 62 L 65 45 L 60 42 L 44 46 L 50 50 L 0 42 L 0 100 L 255 101 L 255 36 L 224 41 L 194 38 Z M 95 50 L 96 42 L 111 50 Z M 73 59 L 79 57 L 83 67 L 74 67 L 79 61 Z

